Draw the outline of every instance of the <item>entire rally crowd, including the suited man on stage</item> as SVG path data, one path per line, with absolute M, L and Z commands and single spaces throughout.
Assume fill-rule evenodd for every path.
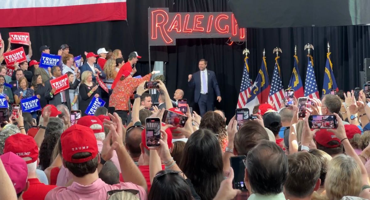
M 279 110 L 260 104 L 250 111 L 254 118 L 242 117 L 238 126 L 234 116 L 226 125 L 223 111 L 208 104 L 221 101 L 221 94 L 205 59 L 199 61 L 200 71 L 188 76 L 198 94 L 198 114 L 188 105 L 179 110 L 184 91 L 176 90 L 172 100 L 163 76 L 154 78 L 157 94 L 148 93 L 145 82 L 155 72 L 133 77 L 137 52 L 125 62 L 120 50 L 101 48 L 97 54 L 85 52 L 85 62 L 77 67 L 70 48 L 61 45 L 57 54 L 63 62 L 49 69 L 32 60 L 17 63 L 14 76 L 8 76 L 6 66 L 0 67 L 0 92 L 9 105 L 37 96 L 42 107 L 12 112 L 1 127 L 0 199 L 370 199 L 370 107 L 363 92 L 358 100 L 344 91 L 310 99 L 305 117 L 299 117 L 303 105 L 295 97 Z M 40 51 L 50 54 L 50 47 Z M 70 88 L 54 94 L 50 80 L 64 74 Z M 115 110 L 108 113 L 102 106 L 86 115 L 93 97 Z M 71 125 L 74 110 L 83 117 Z M 181 115 L 184 125 L 162 120 L 166 112 Z M 311 129 L 310 115 L 330 115 L 337 124 Z M 167 122 L 160 123 L 159 145 L 157 133 L 148 137 L 146 130 L 146 119 L 157 117 Z M 233 188 L 236 166 L 230 160 L 235 156 L 244 158 L 235 170 L 242 173 L 242 190 Z

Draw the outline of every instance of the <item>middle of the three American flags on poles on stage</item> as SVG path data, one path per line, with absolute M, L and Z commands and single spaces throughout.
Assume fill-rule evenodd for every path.
M 277 68 L 277 61 L 275 63 L 274 73 L 272 75 L 272 83 L 269 94 L 269 104 L 272 104 L 275 110 L 281 107 L 282 99 L 284 99 L 284 88 Z

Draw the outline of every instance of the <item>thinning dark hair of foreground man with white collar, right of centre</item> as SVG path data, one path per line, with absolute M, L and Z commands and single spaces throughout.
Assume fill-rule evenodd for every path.
M 246 168 L 253 193 L 279 194 L 288 176 L 288 159 L 276 142 L 263 139 L 247 155 Z

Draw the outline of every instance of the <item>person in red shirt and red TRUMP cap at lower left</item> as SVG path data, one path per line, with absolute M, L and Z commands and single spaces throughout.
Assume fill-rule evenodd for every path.
M 4 153 L 13 152 L 20 156 L 27 163 L 28 182 L 30 186 L 23 193 L 24 200 L 44 200 L 46 194 L 56 186 L 45 185 L 40 183 L 36 177 L 36 167 L 38 165 L 38 147 L 33 137 L 17 133 L 6 139 L 4 145 Z

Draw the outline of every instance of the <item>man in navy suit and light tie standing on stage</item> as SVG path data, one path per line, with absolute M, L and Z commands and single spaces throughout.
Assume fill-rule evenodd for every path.
M 201 116 L 207 111 L 213 111 L 213 102 L 215 101 L 215 93 L 218 102 L 221 102 L 221 93 L 218 88 L 215 72 L 207 70 L 207 61 L 201 59 L 199 61 L 199 70 L 193 75 L 189 75 L 189 87 L 195 87 L 194 101 L 198 103 Z

